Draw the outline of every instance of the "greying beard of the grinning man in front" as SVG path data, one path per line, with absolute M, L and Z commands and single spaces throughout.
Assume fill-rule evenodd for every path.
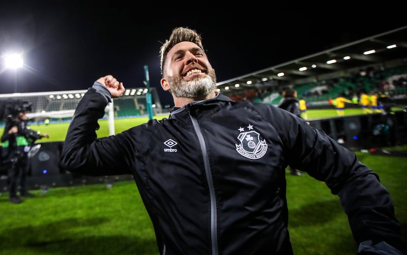
M 180 75 L 168 77 L 171 93 L 178 98 L 201 98 L 212 93 L 216 88 L 215 71 L 210 71 L 205 77 L 197 76 L 190 81 L 184 81 Z

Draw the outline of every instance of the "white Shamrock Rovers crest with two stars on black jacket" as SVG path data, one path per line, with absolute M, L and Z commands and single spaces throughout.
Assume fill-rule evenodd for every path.
M 257 160 L 266 154 L 268 146 L 266 140 L 260 140 L 260 134 L 253 130 L 253 125 L 248 125 L 247 129 L 248 131 L 245 132 L 244 127 L 239 128 L 240 144 L 235 144 L 236 150 L 244 157 Z

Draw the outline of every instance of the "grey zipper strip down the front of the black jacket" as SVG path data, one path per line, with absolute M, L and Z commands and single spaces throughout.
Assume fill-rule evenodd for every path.
M 205 167 L 205 174 L 207 176 L 207 182 L 208 182 L 208 188 L 209 188 L 209 197 L 210 197 L 210 201 L 211 201 L 212 254 L 217 255 L 218 254 L 217 208 L 216 208 L 215 188 L 213 186 L 213 180 L 212 180 L 212 172 L 211 172 L 211 168 L 209 167 L 210 164 L 209 164 L 209 158 L 208 158 L 205 140 L 203 140 L 202 132 L 200 130 L 198 121 L 196 120 L 196 118 L 192 117 L 191 114 L 189 114 L 189 117 L 191 118 L 196 135 L 198 136 L 200 149 L 202 151 L 203 166 Z

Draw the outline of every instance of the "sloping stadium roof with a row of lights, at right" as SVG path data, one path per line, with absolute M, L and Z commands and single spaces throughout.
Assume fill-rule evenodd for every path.
M 217 85 L 222 93 L 231 94 L 251 89 L 277 88 L 316 82 L 336 78 L 343 73 L 371 66 L 387 68 L 390 62 L 407 63 L 406 40 L 407 26 L 403 26 L 270 68 L 221 81 Z M 375 52 L 364 53 L 370 50 L 375 50 Z M 345 56 L 350 58 L 345 60 Z M 336 62 L 327 63 L 328 60 L 332 59 L 336 59 Z M 307 70 L 300 71 L 299 69 L 303 67 L 306 67 Z M 279 73 L 284 73 L 284 75 L 278 76 Z M 235 86 L 235 84 L 239 84 L 239 86 Z M 226 87 L 228 87 L 227 90 Z

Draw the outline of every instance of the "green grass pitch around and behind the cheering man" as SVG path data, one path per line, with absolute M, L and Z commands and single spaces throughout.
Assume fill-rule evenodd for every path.
M 346 114 L 352 114 L 346 109 Z M 355 109 L 358 111 L 359 109 Z M 334 110 L 309 110 L 312 118 L 336 116 Z M 360 114 L 360 110 L 357 114 Z M 156 116 L 157 119 L 167 115 Z M 115 120 L 115 132 L 148 121 L 144 118 Z M 31 125 L 49 133 L 44 141 L 63 141 L 69 123 Z M 99 136 L 108 135 L 108 123 L 100 121 Z M 3 130 L 0 130 L 3 133 Z M 388 148 L 407 150 L 407 146 Z M 359 160 L 380 176 L 392 194 L 395 213 L 404 236 L 407 233 L 407 160 L 405 156 L 373 155 L 355 151 Z M 289 175 L 287 202 L 289 233 L 295 254 L 354 255 L 353 241 L 339 198 L 324 182 L 308 175 Z M 0 255 L 39 254 L 159 254 L 154 229 L 134 181 L 35 189 L 34 198 L 19 205 L 8 202 L 0 191 Z M 265 196 L 267 196 L 265 194 Z

